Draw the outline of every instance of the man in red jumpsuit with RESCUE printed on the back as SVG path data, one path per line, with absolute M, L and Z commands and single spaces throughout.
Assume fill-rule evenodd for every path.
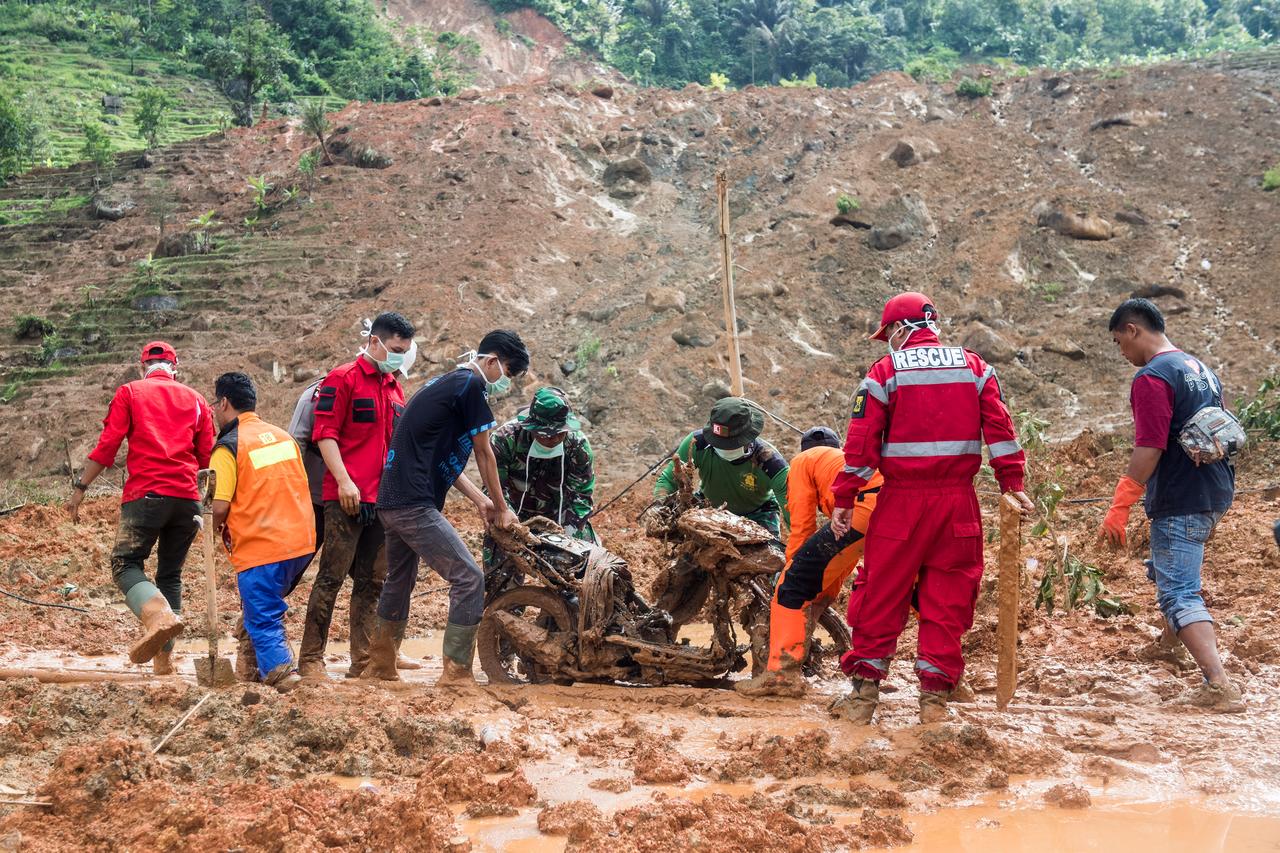
M 852 647 L 841 669 L 854 690 L 832 706 L 869 724 L 879 681 L 916 589 L 920 639 L 920 722 L 947 716 L 947 698 L 964 674 L 960 638 L 973 625 L 982 578 L 982 515 L 973 478 L 987 446 L 1001 492 L 1029 512 L 1023 493 L 1025 455 L 1000 393 L 996 371 L 963 347 L 942 346 L 937 310 L 923 293 L 900 293 L 884 305 L 872 336 L 890 353 L 872 365 L 854 396 L 845 467 L 832 492 L 832 532 L 852 517 L 859 489 L 884 476 L 867 530 L 863 571 L 849 601 Z

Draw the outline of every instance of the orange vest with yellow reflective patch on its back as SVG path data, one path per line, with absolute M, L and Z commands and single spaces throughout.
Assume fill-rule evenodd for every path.
M 314 553 L 311 492 L 293 437 L 247 411 L 219 435 L 218 447 L 236 455 L 236 493 L 227 515 L 236 571 Z

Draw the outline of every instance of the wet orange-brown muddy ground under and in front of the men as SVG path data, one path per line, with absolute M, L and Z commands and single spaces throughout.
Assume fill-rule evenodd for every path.
M 1085 434 L 1038 451 L 1033 483 L 1055 479 L 1069 498 L 1106 494 L 1124 462 L 1120 444 Z M 916 725 L 914 680 L 902 662 L 877 725 L 867 729 L 828 719 L 827 702 L 846 689 L 838 679 L 815 680 L 803 699 L 765 701 L 677 686 L 498 688 L 483 676 L 475 689 L 438 690 L 444 597 L 431 592 L 415 602 L 407 642 L 428 666 L 406 674 L 399 689 L 342 678 L 343 611 L 329 683 L 285 697 L 256 685 L 215 692 L 152 754 L 206 693 L 192 672 L 204 644 L 184 640 L 180 676 L 155 679 L 129 666 L 123 652 L 134 624 L 106 566 L 114 502 L 93 501 L 79 526 L 56 507 L 31 506 L 0 517 L 4 588 L 90 612 L 0 599 L 0 669 L 137 678 L 0 681 L 0 798 L 47 803 L 0 806 L 0 844 L 813 850 L 916 836 L 925 849 L 982 839 L 983 849 L 1043 849 L 1097 836 L 1106 849 L 1140 829 L 1137 838 L 1158 838 L 1171 850 L 1275 849 L 1280 624 L 1271 579 L 1280 556 L 1270 523 L 1280 516 L 1280 491 L 1263 488 L 1280 480 L 1275 451 L 1261 446 L 1243 460 L 1242 494 L 1210 543 L 1204 575 L 1228 670 L 1249 703 L 1240 716 L 1165 704 L 1196 675 L 1140 654 L 1157 633 L 1157 612 L 1139 556 L 1094 547 L 1105 503 L 1064 503 L 1048 535 L 1024 530 L 1023 556 L 1036 564 L 1023 581 L 1018 695 L 1004 713 L 993 699 L 988 548 L 992 571 L 966 639 L 977 702 L 954 704 L 945 724 Z M 641 589 L 663 560 L 663 547 L 635 523 L 644 505 L 643 496 L 628 498 L 599 525 Z M 451 505 L 476 544 L 476 524 L 457 510 Z M 1085 608 L 1036 608 L 1034 588 L 1064 544 L 1103 569 L 1110 592 L 1135 612 L 1103 619 Z M 220 565 L 225 634 L 237 599 Z M 188 571 L 188 619 L 198 635 L 198 562 Z M 433 576 L 424 578 L 430 589 Z M 294 593 L 288 617 L 294 642 L 308 587 Z M 905 660 L 913 643 L 909 628 Z

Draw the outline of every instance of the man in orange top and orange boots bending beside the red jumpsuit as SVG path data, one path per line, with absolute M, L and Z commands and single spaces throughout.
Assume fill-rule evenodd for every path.
M 876 508 L 883 478 L 876 474 L 858 492 L 852 523 L 837 538 L 831 525 L 818 529 L 818 511 L 828 519 L 836 508 L 831 484 L 845 466 L 840 438 L 827 426 L 805 430 L 800 453 L 787 474 L 791 534 L 787 562 L 769 605 L 769 660 L 765 670 L 733 688 L 744 695 L 790 695 L 805 692 L 804 661 L 813 624 L 840 596 L 845 580 L 863 558 L 863 537 Z

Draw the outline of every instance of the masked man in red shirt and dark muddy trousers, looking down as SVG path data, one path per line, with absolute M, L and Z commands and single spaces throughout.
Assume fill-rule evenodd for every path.
M 302 678 L 324 678 L 329 622 L 342 584 L 351 576 L 351 669 L 358 678 L 369 662 L 369 635 L 387 576 L 385 535 L 375 505 L 383 464 L 404 392 L 396 371 L 413 343 L 413 325 L 402 315 L 379 314 L 369 342 L 334 368 L 316 392 L 312 441 L 324 457 L 324 553 L 307 601 L 298 653 Z

